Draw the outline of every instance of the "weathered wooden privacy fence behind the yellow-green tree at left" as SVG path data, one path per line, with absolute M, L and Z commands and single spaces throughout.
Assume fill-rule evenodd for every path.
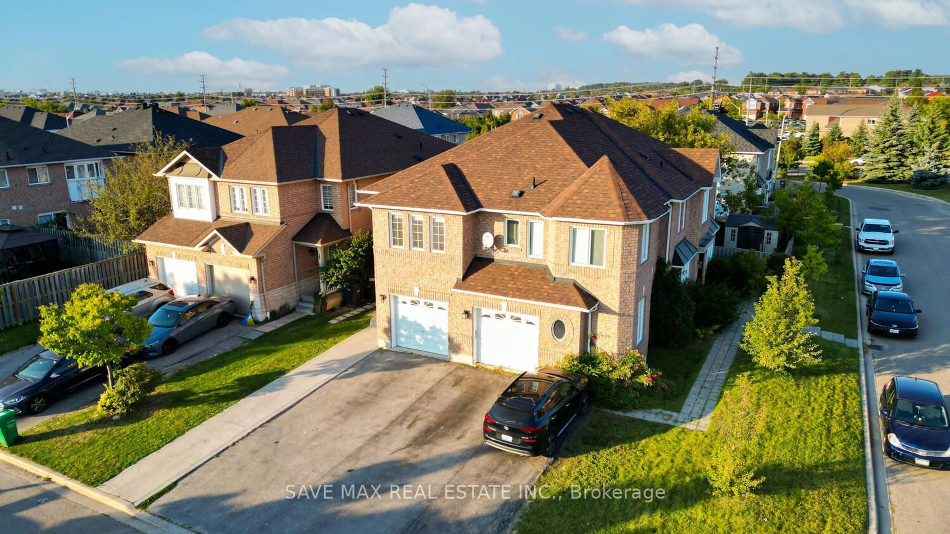
M 0 329 L 39 318 L 37 306 L 65 303 L 77 285 L 109 288 L 146 276 L 145 252 L 135 252 L 0 285 Z

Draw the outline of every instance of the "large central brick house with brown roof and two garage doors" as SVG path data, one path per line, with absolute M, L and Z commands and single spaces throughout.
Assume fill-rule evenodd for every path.
M 645 354 L 656 259 L 697 278 L 719 175 L 717 149 L 547 103 L 363 186 L 379 345 L 515 370 L 593 340 Z

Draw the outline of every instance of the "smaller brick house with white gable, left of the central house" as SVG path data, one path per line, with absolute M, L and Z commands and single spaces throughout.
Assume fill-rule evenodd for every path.
M 239 112 L 240 113 L 240 112 Z M 263 320 L 295 306 L 319 267 L 371 229 L 360 190 L 454 145 L 354 109 L 271 126 L 220 148 L 189 149 L 157 176 L 172 212 L 136 242 L 176 294 L 230 295 Z

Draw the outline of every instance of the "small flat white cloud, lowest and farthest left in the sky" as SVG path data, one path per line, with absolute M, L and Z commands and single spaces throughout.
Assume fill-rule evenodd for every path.
M 263 64 L 239 58 L 221 60 L 208 52 L 188 52 L 177 58 L 141 57 L 116 64 L 142 76 L 195 76 L 207 75 L 208 86 L 214 89 L 236 87 L 271 88 L 287 78 L 290 70 L 279 64 Z

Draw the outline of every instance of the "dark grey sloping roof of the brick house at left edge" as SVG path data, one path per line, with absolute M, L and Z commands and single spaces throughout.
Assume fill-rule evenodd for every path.
M 107 150 L 0 117 L 0 167 L 111 157 Z

